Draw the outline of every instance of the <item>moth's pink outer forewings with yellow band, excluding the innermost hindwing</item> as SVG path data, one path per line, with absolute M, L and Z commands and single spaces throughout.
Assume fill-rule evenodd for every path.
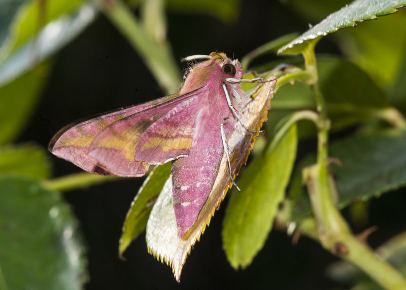
M 74 122 L 53 136 L 48 150 L 91 173 L 123 177 L 142 176 L 147 172 L 149 164 L 157 164 L 135 159 L 134 148 L 142 134 L 174 107 L 193 98 L 200 89 L 183 95 L 165 96 L 104 113 L 96 118 Z M 126 123 L 131 124 L 123 126 Z M 174 156 L 176 155 L 175 152 Z M 117 165 L 121 165 L 121 168 Z

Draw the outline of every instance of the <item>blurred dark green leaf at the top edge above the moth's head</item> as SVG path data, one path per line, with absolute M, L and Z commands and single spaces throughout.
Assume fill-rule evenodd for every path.
M 167 0 L 166 6 L 177 12 L 205 13 L 230 22 L 238 16 L 240 0 Z

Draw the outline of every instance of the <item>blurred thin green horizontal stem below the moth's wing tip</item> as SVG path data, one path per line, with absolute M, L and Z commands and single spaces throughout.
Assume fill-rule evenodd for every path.
M 87 172 L 81 172 L 72 175 L 66 175 L 42 182 L 42 186 L 51 191 L 69 191 L 83 187 L 89 187 L 94 184 L 100 184 L 107 181 L 117 180 L 118 176 L 101 176 Z

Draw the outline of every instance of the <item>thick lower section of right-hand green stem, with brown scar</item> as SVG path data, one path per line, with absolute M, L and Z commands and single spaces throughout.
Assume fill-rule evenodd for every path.
M 386 289 L 406 289 L 406 280 L 351 233 L 333 201 L 334 180 L 319 164 L 307 167 L 308 190 L 321 244 L 335 255 L 358 266 Z

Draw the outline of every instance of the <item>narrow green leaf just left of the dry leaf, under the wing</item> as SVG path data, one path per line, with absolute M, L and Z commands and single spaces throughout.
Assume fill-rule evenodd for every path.
M 128 210 L 123 232 L 119 241 L 118 252 L 121 256 L 131 241 L 144 231 L 152 206 L 161 192 L 166 179 L 171 175 L 171 162 L 160 165 L 145 179 L 144 185 L 140 188 L 131 207 Z

